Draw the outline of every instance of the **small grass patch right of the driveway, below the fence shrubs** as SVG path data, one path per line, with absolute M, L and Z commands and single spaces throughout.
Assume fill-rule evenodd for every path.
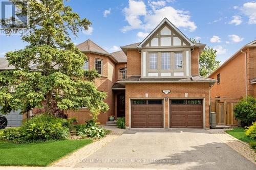
M 242 140 L 244 142 L 252 142 L 252 141 L 256 141 L 255 139 L 252 139 L 252 138 L 249 138 L 248 136 L 245 135 L 245 129 L 244 128 L 233 128 L 232 130 L 227 130 L 225 131 L 227 132 L 229 135 L 239 139 L 239 140 Z

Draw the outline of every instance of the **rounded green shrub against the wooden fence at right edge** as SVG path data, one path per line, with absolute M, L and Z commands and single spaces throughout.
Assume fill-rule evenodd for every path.
M 234 117 L 241 120 L 242 127 L 249 126 L 256 121 L 256 99 L 247 96 L 234 106 Z

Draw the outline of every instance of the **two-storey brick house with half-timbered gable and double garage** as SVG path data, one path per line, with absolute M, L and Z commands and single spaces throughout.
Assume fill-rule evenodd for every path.
M 108 94 L 110 110 L 99 115 L 125 116 L 129 128 L 209 128 L 210 85 L 199 76 L 199 55 L 205 44 L 191 42 L 166 18 L 142 41 L 108 53 L 87 40 L 77 47 L 88 56 L 85 69 L 96 69 L 98 90 Z M 88 109 L 68 110 L 79 123 Z

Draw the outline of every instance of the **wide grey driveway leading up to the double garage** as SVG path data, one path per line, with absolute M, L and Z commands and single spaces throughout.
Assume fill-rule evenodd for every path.
M 207 130 L 129 129 L 77 167 L 255 169 Z

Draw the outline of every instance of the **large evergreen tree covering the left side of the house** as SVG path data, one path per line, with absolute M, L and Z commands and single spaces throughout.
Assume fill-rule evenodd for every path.
M 108 110 L 102 101 L 106 93 L 93 84 L 99 75 L 95 70 L 82 69 L 87 57 L 70 38 L 70 34 L 77 36 L 81 29 L 87 30 L 91 22 L 80 19 L 62 0 L 28 0 L 29 6 L 12 2 L 22 9 L 21 14 L 29 11 L 27 33 L 21 36 L 28 45 L 6 54 L 9 65 L 16 69 L 0 72 L 1 112 L 21 109 L 27 113 L 39 107 L 53 113 L 54 105 L 61 110 Z

